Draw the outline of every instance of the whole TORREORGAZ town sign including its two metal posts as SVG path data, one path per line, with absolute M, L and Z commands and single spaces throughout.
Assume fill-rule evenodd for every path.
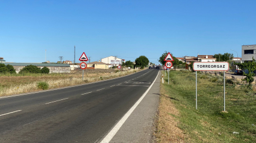
M 198 109 L 198 72 L 197 71 L 223 71 L 223 86 L 224 86 L 224 111 L 225 108 L 225 71 L 228 71 L 228 62 L 194 62 L 193 70 L 196 71 L 196 109 Z

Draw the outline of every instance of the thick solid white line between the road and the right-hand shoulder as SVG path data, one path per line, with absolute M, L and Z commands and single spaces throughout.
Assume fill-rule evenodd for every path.
M 158 71 L 159 74 L 160 71 Z M 157 77 L 158 77 L 157 74 Z M 155 77 L 155 80 L 157 80 L 157 77 Z M 120 129 L 120 127 L 123 125 L 123 123 L 125 123 L 126 119 L 131 115 L 131 113 L 134 111 L 134 109 L 140 104 L 140 102 L 142 101 L 142 99 L 146 96 L 146 94 L 148 93 L 148 91 L 151 89 L 151 87 L 153 86 L 154 82 L 151 84 L 151 86 L 148 87 L 148 90 L 146 90 L 146 92 L 142 95 L 142 97 L 140 97 L 140 99 L 133 105 L 133 107 L 131 107 L 131 109 L 129 109 L 128 112 L 126 112 L 125 115 L 123 115 L 123 117 L 121 118 L 121 120 L 118 121 L 118 123 L 116 124 L 116 126 L 113 127 L 113 129 L 108 133 L 107 136 L 105 136 L 104 139 L 102 139 L 101 143 L 108 143 L 111 141 L 111 139 L 114 137 L 114 135 L 116 135 L 117 131 Z

